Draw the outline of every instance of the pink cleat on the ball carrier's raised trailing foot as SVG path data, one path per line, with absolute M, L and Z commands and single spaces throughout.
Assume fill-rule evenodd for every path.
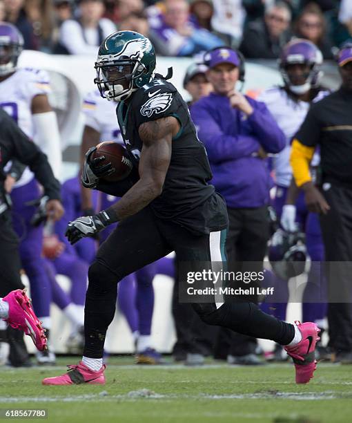
M 296 384 L 307 384 L 313 377 L 317 368 L 315 360 L 315 345 L 320 340 L 320 329 L 315 323 L 300 323 L 295 321 L 302 332 L 302 341 L 295 346 L 285 346 L 287 354 L 292 357 L 296 370 Z

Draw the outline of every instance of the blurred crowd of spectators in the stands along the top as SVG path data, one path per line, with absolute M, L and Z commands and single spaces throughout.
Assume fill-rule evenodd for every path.
M 302 37 L 333 59 L 352 41 L 351 0 L 0 0 L 1 20 L 22 32 L 24 48 L 57 54 L 96 53 L 115 30 L 148 36 L 165 56 L 226 45 L 275 59 Z

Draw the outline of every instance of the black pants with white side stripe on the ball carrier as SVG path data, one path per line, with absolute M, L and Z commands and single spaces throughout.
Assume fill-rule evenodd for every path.
M 219 232 L 195 235 L 175 223 L 157 219 L 150 207 L 122 221 L 101 244 L 88 272 L 84 356 L 103 357 L 106 330 L 115 314 L 118 281 L 172 251 L 177 255 L 177 265 L 194 261 L 196 267 L 200 261 L 211 261 L 216 248 L 222 247 L 220 243 L 215 245 L 220 239 Z M 208 324 L 280 344 L 289 344 L 293 339 L 293 325 L 265 314 L 254 303 L 224 303 L 218 307 L 215 303 L 193 304 Z

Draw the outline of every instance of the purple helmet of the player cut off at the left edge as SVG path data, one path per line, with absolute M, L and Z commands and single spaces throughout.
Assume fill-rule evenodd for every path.
M 23 50 L 21 32 L 8 22 L 0 22 L 0 76 L 16 71 Z

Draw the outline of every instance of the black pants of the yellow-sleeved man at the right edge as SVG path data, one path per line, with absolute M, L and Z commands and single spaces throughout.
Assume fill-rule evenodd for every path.
M 352 189 L 331 184 L 322 194 L 331 207 L 320 218 L 328 281 L 329 346 L 337 353 L 349 352 L 352 351 Z

